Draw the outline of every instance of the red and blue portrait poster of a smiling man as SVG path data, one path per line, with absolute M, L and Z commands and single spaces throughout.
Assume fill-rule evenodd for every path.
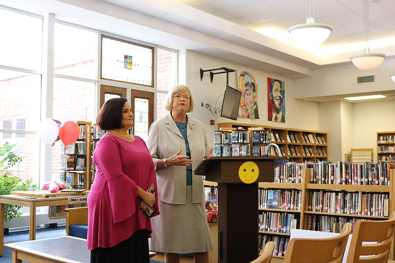
M 285 122 L 285 83 L 268 77 L 268 120 Z

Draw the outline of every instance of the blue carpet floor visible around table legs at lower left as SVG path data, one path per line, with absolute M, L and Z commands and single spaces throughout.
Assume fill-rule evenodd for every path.
M 58 224 L 56 228 L 52 227 L 37 227 L 36 228 L 36 239 L 51 238 L 66 236 L 66 225 Z M 4 234 L 4 244 L 28 241 L 29 240 L 29 228 L 9 230 L 8 234 Z M 12 263 L 12 251 L 11 249 L 4 247 L 3 256 L 0 257 L 0 263 Z M 27 263 L 22 261 L 22 263 Z M 150 263 L 163 263 L 162 261 L 150 260 Z

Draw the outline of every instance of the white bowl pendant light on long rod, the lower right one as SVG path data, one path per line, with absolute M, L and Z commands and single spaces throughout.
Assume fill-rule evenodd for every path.
M 353 64 L 361 70 L 373 70 L 381 65 L 385 54 L 381 53 L 370 53 L 369 41 L 370 41 L 370 31 L 369 31 L 369 3 L 368 0 L 363 1 L 363 30 L 365 31 L 365 53 L 357 54 L 350 57 Z

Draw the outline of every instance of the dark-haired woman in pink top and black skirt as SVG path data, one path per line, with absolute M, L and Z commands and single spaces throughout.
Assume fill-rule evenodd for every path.
M 128 134 L 133 113 L 125 98 L 108 100 L 96 122 L 107 133 L 93 153 L 86 242 L 91 263 L 149 263 L 152 227 L 145 211 L 154 208 L 152 216 L 159 214 L 151 154 L 140 137 Z

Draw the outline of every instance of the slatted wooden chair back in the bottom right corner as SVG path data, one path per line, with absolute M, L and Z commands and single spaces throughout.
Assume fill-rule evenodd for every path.
M 347 263 L 383 263 L 387 262 L 394 239 L 395 212 L 389 220 L 356 222 L 351 238 Z M 362 244 L 362 242 L 375 242 Z M 360 258 L 360 256 L 365 256 Z

